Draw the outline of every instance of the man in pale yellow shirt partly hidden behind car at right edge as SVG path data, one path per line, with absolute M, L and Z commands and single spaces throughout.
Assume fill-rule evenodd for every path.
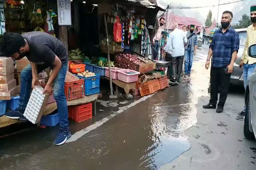
M 250 78 L 254 68 L 256 67 L 256 58 L 248 55 L 247 48 L 252 44 L 256 44 L 256 5 L 251 6 L 251 21 L 252 25 L 247 28 L 247 38 L 244 46 L 244 52 L 240 61 L 240 68 L 243 69 L 244 88 L 246 88 L 247 80 Z M 236 117 L 237 120 L 244 120 L 245 108 Z

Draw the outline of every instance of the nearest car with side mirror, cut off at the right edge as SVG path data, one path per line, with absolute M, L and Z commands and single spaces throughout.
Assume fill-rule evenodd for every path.
M 256 44 L 248 48 L 250 57 L 256 58 Z M 244 136 L 247 139 L 256 138 L 256 68 L 253 70 L 249 80 L 247 80 L 245 90 L 245 121 Z

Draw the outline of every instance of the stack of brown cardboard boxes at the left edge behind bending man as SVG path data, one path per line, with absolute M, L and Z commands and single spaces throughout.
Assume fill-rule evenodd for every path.
M 0 57 L 0 100 L 11 100 L 19 93 L 20 87 L 14 79 L 12 58 Z

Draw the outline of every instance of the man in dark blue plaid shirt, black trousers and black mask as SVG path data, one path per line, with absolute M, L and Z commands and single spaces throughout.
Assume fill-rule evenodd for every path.
M 204 109 L 215 109 L 218 101 L 218 88 L 220 86 L 220 98 L 218 103 L 217 113 L 223 112 L 225 105 L 230 75 L 233 72 L 233 65 L 239 49 L 239 34 L 230 27 L 233 14 L 230 11 L 225 11 L 221 18 L 221 28 L 215 31 L 213 40 L 210 44 L 205 68 L 211 66 L 211 99 L 208 105 L 204 105 Z

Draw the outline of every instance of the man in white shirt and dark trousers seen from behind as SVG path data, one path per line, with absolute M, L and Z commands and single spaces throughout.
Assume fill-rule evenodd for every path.
M 170 33 L 167 43 L 164 47 L 166 52 L 165 59 L 172 64 L 172 77 L 170 85 L 178 85 L 180 78 L 183 59 L 184 59 L 184 44 L 187 43 L 187 38 L 183 30 L 178 29 L 178 23 L 173 24 L 173 32 Z M 171 71 L 171 70 L 168 70 Z

